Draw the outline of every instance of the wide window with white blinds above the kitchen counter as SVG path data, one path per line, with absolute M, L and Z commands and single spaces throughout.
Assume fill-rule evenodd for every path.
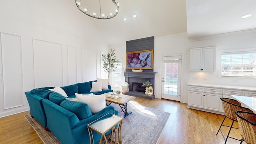
M 256 51 L 222 53 L 220 56 L 221 76 L 255 77 Z

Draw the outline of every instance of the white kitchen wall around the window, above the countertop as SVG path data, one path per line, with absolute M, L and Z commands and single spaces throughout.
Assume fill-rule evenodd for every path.
M 190 48 L 216 46 L 216 72 L 190 72 L 189 82 L 255 87 L 256 78 L 234 78 L 220 76 L 221 53 L 256 50 L 255 37 L 256 30 L 247 30 L 242 32 L 205 36 L 198 40 L 191 41 Z

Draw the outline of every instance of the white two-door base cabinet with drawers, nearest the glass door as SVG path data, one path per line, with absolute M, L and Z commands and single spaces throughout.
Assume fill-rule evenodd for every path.
M 221 112 L 221 88 L 189 86 L 188 106 Z

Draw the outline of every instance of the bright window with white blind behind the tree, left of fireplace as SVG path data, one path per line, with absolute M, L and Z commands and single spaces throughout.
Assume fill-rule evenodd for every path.
M 113 86 L 121 87 L 122 84 L 122 62 L 115 63 L 116 70 L 113 72 Z

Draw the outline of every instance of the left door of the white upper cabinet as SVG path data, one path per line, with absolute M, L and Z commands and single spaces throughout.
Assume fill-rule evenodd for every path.
M 202 69 L 202 48 L 191 48 L 190 49 L 190 71 L 198 72 Z

